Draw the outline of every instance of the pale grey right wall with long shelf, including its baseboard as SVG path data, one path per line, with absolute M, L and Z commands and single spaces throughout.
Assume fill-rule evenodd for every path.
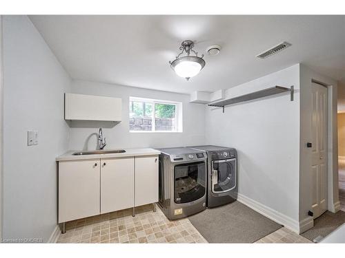
M 239 201 L 299 230 L 299 64 L 226 90 L 233 98 L 275 85 L 284 93 L 225 108 L 206 106 L 206 143 L 238 152 Z

